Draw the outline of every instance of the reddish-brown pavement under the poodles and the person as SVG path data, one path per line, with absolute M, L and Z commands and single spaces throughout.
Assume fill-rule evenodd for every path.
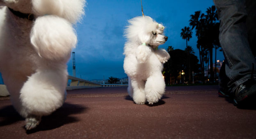
M 126 87 L 71 90 L 64 105 L 30 131 L 9 97 L 0 97 L 0 138 L 256 138 L 256 109 L 239 109 L 217 91 L 217 86 L 167 87 L 158 103 L 137 105 Z

